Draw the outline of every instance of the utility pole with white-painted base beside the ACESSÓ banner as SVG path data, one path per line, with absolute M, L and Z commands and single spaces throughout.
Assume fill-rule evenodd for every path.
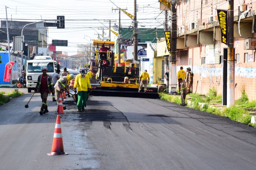
M 234 96 L 234 0 L 228 1 L 227 107 L 235 104 Z

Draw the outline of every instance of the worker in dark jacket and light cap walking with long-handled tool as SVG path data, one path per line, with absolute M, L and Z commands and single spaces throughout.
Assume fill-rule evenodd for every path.
M 42 106 L 40 109 L 39 114 L 43 115 L 45 113 L 48 113 L 48 107 L 47 107 L 47 97 L 51 92 L 54 92 L 52 78 L 47 73 L 47 67 L 42 67 L 43 74 L 38 76 L 37 83 L 36 83 L 36 89 L 41 94 L 42 99 Z

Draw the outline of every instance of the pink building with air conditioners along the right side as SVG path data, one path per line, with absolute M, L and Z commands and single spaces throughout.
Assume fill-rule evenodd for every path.
M 180 66 L 184 69 L 191 67 L 194 73 L 193 92 L 196 91 L 198 81 L 198 93 L 205 94 L 210 88 L 215 87 L 218 94 L 223 94 L 223 90 L 225 94 L 227 46 L 221 43 L 216 9 L 228 10 L 228 1 L 176 2 L 177 71 Z M 251 46 L 256 43 L 251 41 L 254 42 L 256 39 L 250 39 L 256 38 L 256 1 L 240 0 L 240 3 L 234 0 L 235 99 L 241 96 L 240 90 L 244 86 L 249 99 L 256 100 L 256 46 Z M 246 38 L 249 38 L 249 43 L 246 43 Z

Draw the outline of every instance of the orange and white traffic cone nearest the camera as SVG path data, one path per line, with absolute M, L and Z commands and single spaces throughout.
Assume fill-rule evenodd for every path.
M 47 153 L 47 155 L 67 155 L 68 153 L 64 152 L 62 135 L 61 135 L 61 127 L 60 127 L 60 115 L 57 115 L 57 120 L 55 124 L 55 130 L 52 141 L 52 151 L 51 153 Z

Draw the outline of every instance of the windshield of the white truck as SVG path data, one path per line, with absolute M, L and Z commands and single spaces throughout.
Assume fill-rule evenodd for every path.
M 53 71 L 53 62 L 33 62 L 28 63 L 28 73 L 39 73 L 42 72 L 42 68 L 47 67 L 48 72 Z

